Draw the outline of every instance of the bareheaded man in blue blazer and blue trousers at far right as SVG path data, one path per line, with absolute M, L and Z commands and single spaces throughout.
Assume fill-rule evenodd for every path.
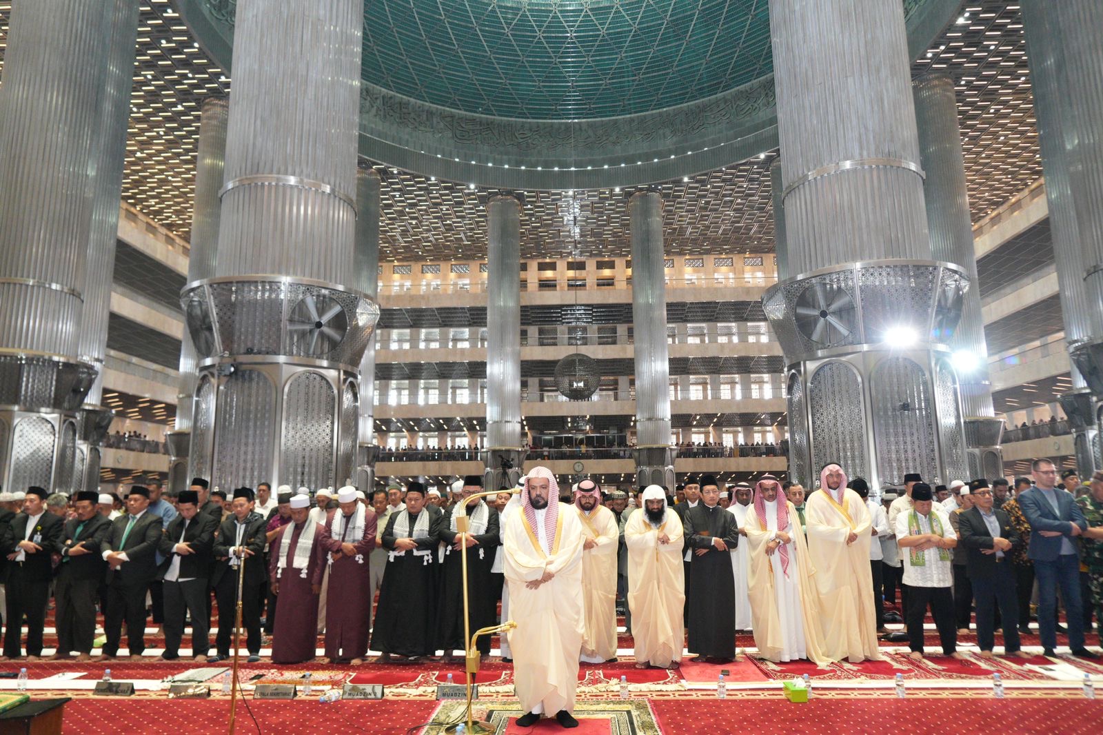
M 1072 493 L 1057 484 L 1057 468 L 1048 459 L 1030 467 L 1035 487 L 1019 496 L 1019 508 L 1030 524 L 1027 555 L 1038 578 L 1038 629 L 1046 656 L 1057 648 L 1057 588 L 1061 588 L 1068 617 L 1069 648 L 1085 659 L 1099 656 L 1084 648 L 1084 616 L 1080 601 L 1080 544 L 1077 536 L 1088 530 L 1088 521 Z

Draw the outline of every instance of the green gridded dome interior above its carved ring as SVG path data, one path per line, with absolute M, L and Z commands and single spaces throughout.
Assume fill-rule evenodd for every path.
M 772 71 L 767 0 L 373 0 L 363 78 L 465 113 L 649 113 Z

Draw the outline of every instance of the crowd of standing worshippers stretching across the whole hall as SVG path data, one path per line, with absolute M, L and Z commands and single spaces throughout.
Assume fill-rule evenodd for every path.
M 483 491 L 478 476 L 443 496 L 417 481 L 371 494 L 287 486 L 274 494 L 260 483 L 227 497 L 195 478 L 170 498 L 150 480 L 122 500 L 32 487 L 0 494 L 3 658 L 42 656 L 51 595 L 51 658 L 77 660 L 97 642 L 97 609 L 103 656 L 118 654 L 125 630 L 130 657 L 140 658 L 148 606 L 163 629 L 162 659 L 179 658 L 190 627 L 196 661 L 224 660 L 238 605 L 248 660 L 270 642 L 272 662 L 285 664 L 314 660 L 319 635 L 326 663 L 358 664 L 368 650 L 381 661 L 451 660 L 465 649 L 465 630 L 513 619 L 518 629 L 501 636 L 508 661 L 525 640 L 522 619 L 545 614 L 579 628 L 579 661 L 604 662 L 618 656 L 619 612 L 640 668 L 676 667 L 684 647 L 709 662 L 735 660 L 737 631 L 751 631 L 758 654 L 775 662 L 877 660 L 879 637 L 906 640 L 921 658 L 928 609 L 942 652 L 960 658 L 974 605 L 982 656 L 993 656 L 997 632 L 1005 652 L 1019 654 L 1036 609 L 1047 656 L 1060 632 L 1073 656 L 1095 658 L 1085 636 L 1093 614 L 1103 617 L 1103 473 L 1082 487 L 1065 472 L 1059 486 L 1054 466 L 1037 460 L 1032 475 L 1014 489 L 1004 479 L 932 488 L 908 475 L 880 502 L 838 465 L 824 467 L 807 493 L 764 475 L 722 489 L 715 477 L 689 478 L 673 496 L 658 486 L 602 492 L 582 480 L 559 496 L 546 468 L 517 489 L 470 500 Z M 558 526 L 524 504 L 534 479 L 558 498 Z M 564 518 L 577 519 L 579 558 L 563 563 L 579 564 L 580 584 L 559 594 L 577 597 L 577 622 L 570 601 L 557 598 L 552 611 L 516 601 L 554 576 L 549 560 L 575 543 Z M 475 647 L 489 656 L 491 637 Z

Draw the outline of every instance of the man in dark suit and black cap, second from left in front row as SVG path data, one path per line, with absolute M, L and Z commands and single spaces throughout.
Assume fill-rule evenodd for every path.
M 82 490 L 76 493 L 76 518 L 65 522 L 62 561 L 54 584 L 57 652 L 52 659 L 65 659 L 69 651 L 76 651 L 77 661 L 92 660 L 96 598 L 107 572 L 100 548 L 111 532 L 111 522 L 99 513 L 98 503 L 98 492 Z

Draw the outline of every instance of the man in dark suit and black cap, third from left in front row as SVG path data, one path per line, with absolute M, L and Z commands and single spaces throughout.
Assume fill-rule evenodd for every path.
M 146 593 L 157 577 L 161 516 L 147 512 L 149 490 L 143 486 L 131 486 L 126 503 L 127 514 L 115 519 L 103 544 L 101 555 L 108 566 L 104 658 L 118 654 L 125 619 L 130 658 L 140 661 L 146 650 Z

